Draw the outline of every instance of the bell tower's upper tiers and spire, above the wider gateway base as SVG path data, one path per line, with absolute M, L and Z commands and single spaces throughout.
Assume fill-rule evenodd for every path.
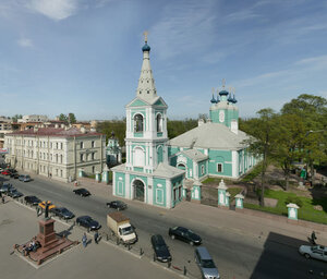
M 126 106 L 126 169 L 152 173 L 159 162 L 168 162 L 168 106 L 157 95 L 149 62 L 150 47 L 142 48 L 143 62 L 136 97 Z

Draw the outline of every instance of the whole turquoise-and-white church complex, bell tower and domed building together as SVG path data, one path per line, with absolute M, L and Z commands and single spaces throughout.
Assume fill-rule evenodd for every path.
M 256 163 L 239 130 L 235 97 L 225 89 L 213 95 L 209 119 L 169 141 L 165 100 L 157 95 L 149 62 L 150 47 L 142 48 L 143 63 L 135 98 L 126 105 L 126 162 L 111 168 L 114 196 L 172 208 L 186 187 L 198 197 L 208 177 L 238 179 Z M 193 196 L 193 192 L 192 192 Z

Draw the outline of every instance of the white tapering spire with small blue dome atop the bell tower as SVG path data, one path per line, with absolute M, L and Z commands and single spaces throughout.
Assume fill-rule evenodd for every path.
M 143 51 L 143 63 L 141 69 L 141 75 L 138 78 L 138 86 L 136 89 L 136 97 L 147 101 L 152 101 L 157 97 L 157 90 L 155 86 L 155 80 L 153 76 L 153 70 L 149 62 L 150 47 L 147 45 L 147 32 L 144 32 L 144 46 Z

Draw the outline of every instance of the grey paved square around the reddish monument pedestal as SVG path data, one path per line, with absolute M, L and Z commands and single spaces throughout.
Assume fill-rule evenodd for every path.
M 14 244 L 22 244 L 38 233 L 39 218 L 35 209 L 9 199 L 0 205 L 0 270 L 1 278 L 180 278 L 170 270 L 152 264 L 147 258 L 133 257 L 129 252 L 100 241 L 93 243 L 93 233 L 87 233 L 90 243 L 83 247 L 78 244 L 62 254 L 35 265 L 13 252 Z M 55 223 L 55 230 L 68 230 L 72 223 Z M 84 230 L 73 227 L 69 239 L 81 241 Z

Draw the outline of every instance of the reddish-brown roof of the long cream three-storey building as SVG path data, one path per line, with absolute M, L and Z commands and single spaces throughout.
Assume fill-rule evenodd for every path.
M 16 131 L 10 133 L 8 135 L 31 135 L 31 136 L 61 136 L 61 137 L 72 137 L 72 136 L 95 136 L 95 135 L 102 135 L 101 133 L 97 132 L 85 132 L 82 133 L 81 130 L 77 128 L 70 128 L 68 130 L 63 128 L 38 128 L 28 129 L 24 131 Z

